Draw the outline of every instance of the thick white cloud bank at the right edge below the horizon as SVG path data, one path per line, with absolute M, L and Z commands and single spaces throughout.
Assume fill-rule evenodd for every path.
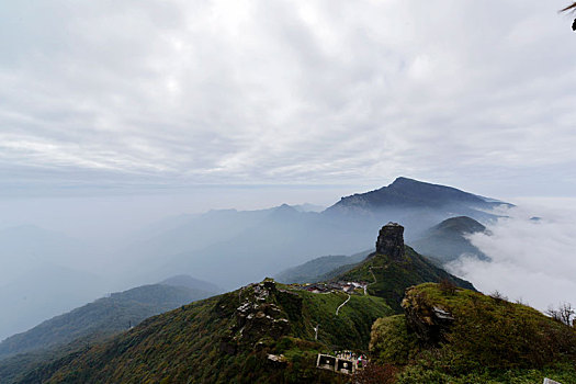
M 471 236 L 472 244 L 492 262 L 464 258 L 450 269 L 485 293 L 499 291 L 541 310 L 576 303 L 576 201 L 524 203 L 522 208 L 502 212 L 508 217 L 488 225 L 492 235 Z M 541 218 L 531 219 L 534 216 Z

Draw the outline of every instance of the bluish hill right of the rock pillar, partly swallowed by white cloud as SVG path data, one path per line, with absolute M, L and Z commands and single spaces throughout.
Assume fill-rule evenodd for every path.
M 462 255 L 488 260 L 488 257 L 466 238 L 476 233 L 486 233 L 486 227 L 471 217 L 451 217 L 430 228 L 422 238 L 413 241 L 411 246 L 418 252 L 441 263 L 453 261 Z

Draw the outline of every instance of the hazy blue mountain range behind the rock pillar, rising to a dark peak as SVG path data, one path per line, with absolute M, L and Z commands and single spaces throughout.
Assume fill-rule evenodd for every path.
M 146 256 L 143 278 L 191 273 L 224 289 L 274 275 L 317 255 L 352 255 L 373 241 L 384 223 L 400 223 L 408 244 L 431 226 L 453 216 L 481 223 L 496 219 L 489 211 L 507 204 L 454 188 L 398 178 L 376 191 L 342 197 L 327 210 L 298 212 L 283 204 L 260 211 L 213 211 L 188 224 L 157 231 L 129 252 Z M 266 241 L 264 241 L 266 239 Z M 153 268 L 154 266 L 154 268 Z M 222 268 L 234 266 L 234 268 Z

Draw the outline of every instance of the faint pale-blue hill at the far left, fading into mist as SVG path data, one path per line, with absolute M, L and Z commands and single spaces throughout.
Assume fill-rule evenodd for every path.
M 102 295 L 92 247 L 55 230 L 0 230 L 0 340 Z

